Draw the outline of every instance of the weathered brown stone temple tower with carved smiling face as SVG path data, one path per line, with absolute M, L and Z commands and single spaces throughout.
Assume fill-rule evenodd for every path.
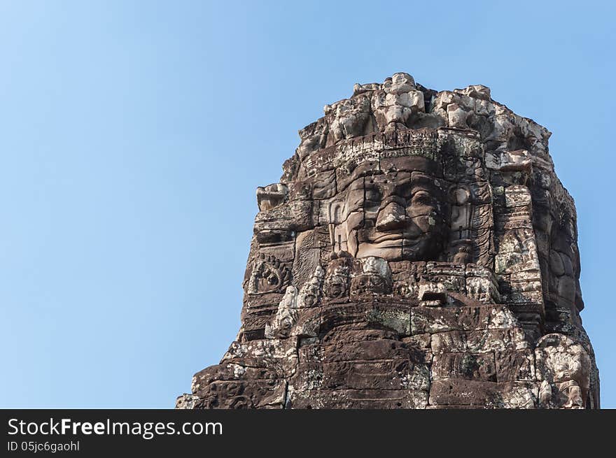
M 259 187 L 241 329 L 178 408 L 598 408 L 549 131 L 481 85 L 355 85 Z

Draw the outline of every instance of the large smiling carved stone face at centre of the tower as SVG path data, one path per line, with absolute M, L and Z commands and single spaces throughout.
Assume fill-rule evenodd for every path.
M 388 261 L 435 254 L 444 229 L 444 197 L 432 168 L 351 176 L 344 201 L 330 206 L 334 250 Z

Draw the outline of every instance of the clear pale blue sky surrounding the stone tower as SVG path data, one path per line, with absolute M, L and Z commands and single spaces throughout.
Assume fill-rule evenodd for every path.
M 172 407 L 239 328 L 255 188 L 325 103 L 406 71 L 487 85 L 552 131 L 616 408 L 615 16 L 609 1 L 0 0 L 0 406 Z

